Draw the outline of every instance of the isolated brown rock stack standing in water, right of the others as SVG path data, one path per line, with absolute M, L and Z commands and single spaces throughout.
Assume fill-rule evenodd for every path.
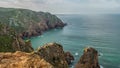
M 75 65 L 75 68 L 100 68 L 97 50 L 91 47 L 85 48 L 84 54 Z

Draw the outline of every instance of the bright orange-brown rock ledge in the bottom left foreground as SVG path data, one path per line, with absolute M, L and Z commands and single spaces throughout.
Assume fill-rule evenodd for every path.
M 55 68 L 33 53 L 0 53 L 0 68 Z

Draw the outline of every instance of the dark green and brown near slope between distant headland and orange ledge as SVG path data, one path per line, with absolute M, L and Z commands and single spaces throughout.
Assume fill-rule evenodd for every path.
M 33 48 L 30 41 L 24 42 L 14 29 L 0 23 L 0 52 L 15 51 L 31 52 Z

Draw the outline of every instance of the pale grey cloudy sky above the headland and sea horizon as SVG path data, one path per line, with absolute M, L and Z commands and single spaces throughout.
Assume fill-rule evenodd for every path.
M 120 13 L 120 0 L 0 0 L 0 7 L 54 14 Z

